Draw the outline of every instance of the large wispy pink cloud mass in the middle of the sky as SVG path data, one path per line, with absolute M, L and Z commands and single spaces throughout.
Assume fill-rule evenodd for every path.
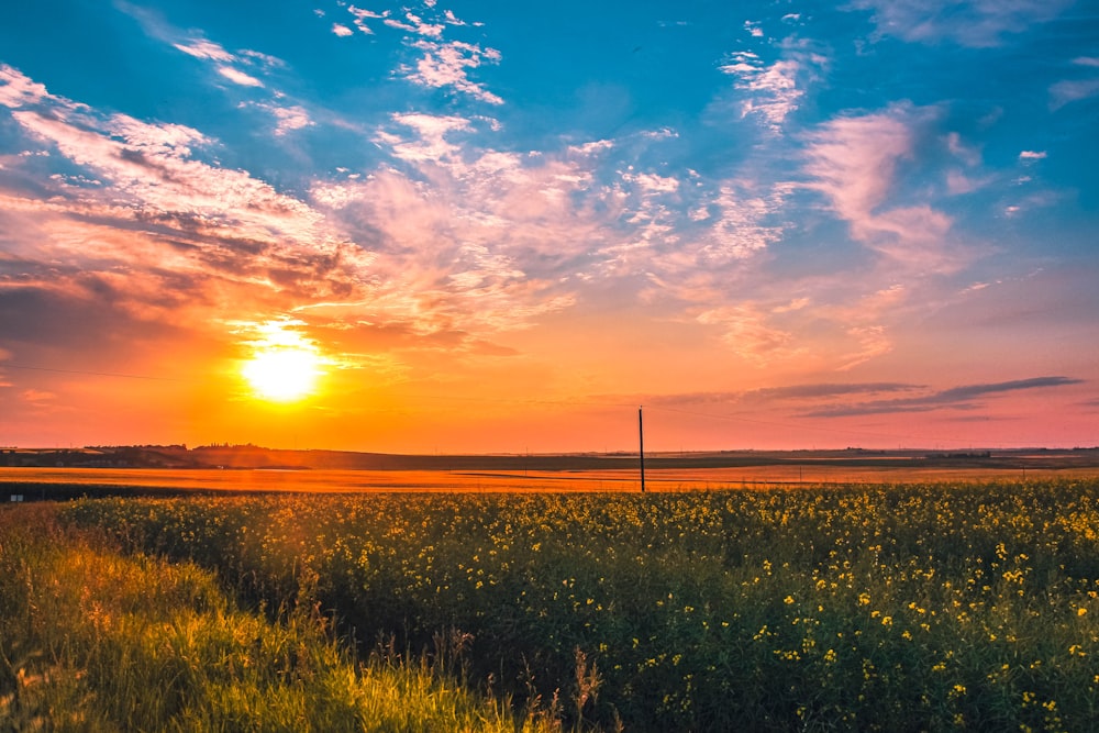
M 389 167 L 364 180 L 318 181 L 311 190 L 330 221 L 377 253 L 392 312 L 428 312 L 414 301 L 430 299 L 440 318 L 445 312 L 473 330 L 515 327 L 569 307 L 592 281 L 633 281 L 654 297 L 684 299 L 690 318 L 702 314 L 731 332 L 729 343 L 751 333 L 762 351 L 782 337 L 765 323 L 766 310 L 755 325 L 751 314 L 714 311 L 729 300 L 728 286 L 693 286 L 699 267 L 720 280 L 723 267 L 781 235 L 778 216 L 791 187 L 728 181 L 711 196 L 693 173 L 626 166 L 610 176 L 613 141 L 502 152 L 475 145 L 487 123 L 395 114 L 374 138 L 391 156 Z M 699 210 L 697 199 L 704 216 L 688 214 Z M 690 232 L 673 231 L 686 220 Z

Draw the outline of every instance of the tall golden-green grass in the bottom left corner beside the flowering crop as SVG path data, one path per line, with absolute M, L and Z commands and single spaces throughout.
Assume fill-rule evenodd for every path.
M 553 728 L 426 665 L 356 664 L 311 602 L 273 622 L 195 563 L 0 510 L 0 731 Z

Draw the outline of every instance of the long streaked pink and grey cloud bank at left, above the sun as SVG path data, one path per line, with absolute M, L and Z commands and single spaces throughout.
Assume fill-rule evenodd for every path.
M 368 290 L 368 253 L 308 203 L 203 162 L 214 141 L 197 130 L 99 114 L 46 91 L 11 116 L 66 171 L 43 179 L 40 198 L 0 199 L 9 222 L 33 215 L 8 244 L 26 258 L 24 274 L 65 262 L 110 285 L 85 297 L 124 293 L 112 300 L 138 318 L 165 314 L 163 292 L 197 298 L 213 281 L 223 295 L 247 291 L 242 308 L 276 293 L 292 302 Z

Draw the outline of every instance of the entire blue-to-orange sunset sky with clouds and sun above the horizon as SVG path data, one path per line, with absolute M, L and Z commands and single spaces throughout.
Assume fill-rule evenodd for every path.
M 1092 0 L 8 3 L 0 445 L 1099 445 Z

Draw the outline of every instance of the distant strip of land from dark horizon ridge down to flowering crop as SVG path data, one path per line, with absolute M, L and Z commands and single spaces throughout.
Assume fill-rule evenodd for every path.
M 839 456 L 836 455 L 839 454 Z M 319 466 L 355 465 L 315 459 Z M 0 499 L 9 495 L 55 499 L 80 496 L 190 495 L 195 492 L 635 492 L 637 458 L 619 456 L 374 457 L 366 465 L 397 468 L 326 468 L 310 452 L 267 452 L 259 457 L 220 455 L 240 464 L 223 468 L 79 468 L 0 466 Z M 407 466 L 412 466 L 407 467 Z M 455 466 L 455 467 L 451 467 Z M 929 482 L 986 484 L 1099 476 L 1099 452 L 1010 455 L 990 459 L 928 459 L 912 453 L 847 457 L 843 452 L 755 454 L 687 458 L 651 457 L 648 491 L 874 486 Z

